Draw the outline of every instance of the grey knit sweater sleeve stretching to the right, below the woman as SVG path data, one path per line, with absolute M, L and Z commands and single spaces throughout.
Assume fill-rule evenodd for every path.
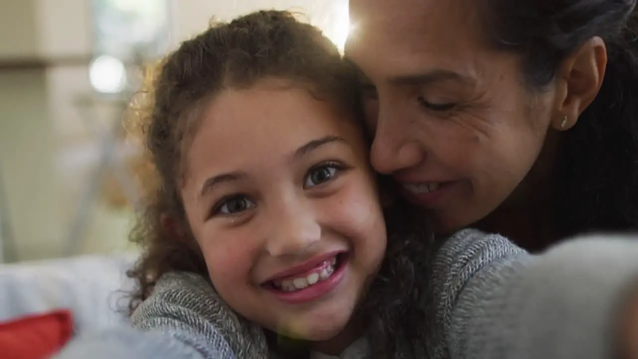
M 609 358 L 638 284 L 638 241 L 587 236 L 531 256 L 464 230 L 441 247 L 433 273 L 452 359 Z

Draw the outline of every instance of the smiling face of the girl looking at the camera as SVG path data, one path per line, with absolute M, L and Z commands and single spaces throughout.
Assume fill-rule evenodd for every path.
M 385 224 L 360 128 L 302 86 L 216 96 L 181 195 L 219 295 L 274 332 L 345 328 L 383 259 Z

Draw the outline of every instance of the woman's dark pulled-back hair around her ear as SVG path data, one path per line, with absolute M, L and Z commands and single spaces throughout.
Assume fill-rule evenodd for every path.
M 516 52 L 533 90 L 594 36 L 607 46 L 602 87 L 562 134 L 554 170 L 559 236 L 638 229 L 638 21 L 636 0 L 483 0 L 490 45 Z M 549 243 L 537 243 L 544 245 Z

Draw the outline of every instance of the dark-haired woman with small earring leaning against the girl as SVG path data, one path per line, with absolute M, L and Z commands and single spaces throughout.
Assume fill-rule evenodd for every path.
M 351 0 L 371 160 L 528 250 L 638 228 L 635 0 Z

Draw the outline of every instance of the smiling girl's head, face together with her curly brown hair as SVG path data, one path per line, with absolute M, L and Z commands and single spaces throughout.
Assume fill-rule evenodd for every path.
M 406 243 L 401 234 L 386 248 L 356 84 L 318 29 L 278 11 L 212 27 L 166 59 L 149 86 L 149 111 L 131 119 L 147 131 L 157 173 L 149 178 L 160 179 L 133 233 L 145 253 L 131 273 L 140 282 L 131 309 L 155 290 L 134 312 L 135 325 L 155 326 L 146 315 L 161 284 L 182 282 L 174 272 L 186 271 L 198 275 L 188 280 L 209 281 L 200 280 L 205 297 L 219 295 L 258 325 L 248 330 L 258 351 L 225 333 L 240 357 L 265 355 L 267 341 L 281 355 L 339 354 L 370 325 L 375 351 L 393 351 L 390 335 L 401 331 L 394 323 L 419 314 L 403 297 L 413 273 L 424 272 L 402 256 L 423 260 L 425 239 Z M 392 213 L 396 235 L 405 216 Z M 401 280 L 371 288 L 386 252 L 397 261 L 384 277 Z M 362 305 L 370 290 L 376 294 Z M 221 317 L 239 320 L 230 311 Z

